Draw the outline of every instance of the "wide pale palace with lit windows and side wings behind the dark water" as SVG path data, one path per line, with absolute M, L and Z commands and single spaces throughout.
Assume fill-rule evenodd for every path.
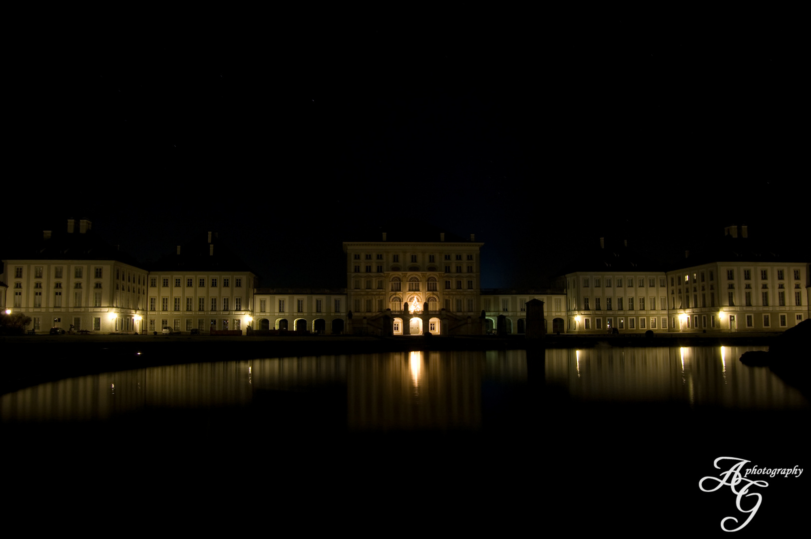
M 345 289 L 263 289 L 216 233 L 144 269 L 92 241 L 91 229 L 68 220 L 66 234 L 45 231 L 28 257 L 4 260 L 2 309 L 30 316 L 34 332 L 393 336 L 481 335 L 500 317 L 505 332 L 521 334 L 532 299 L 553 333 L 779 332 L 809 316 L 809 263 L 742 249 L 745 227 L 740 237 L 726 229 L 732 248 L 712 251 L 716 259 L 685 253 L 677 269 L 601 239 L 556 288 L 537 290 L 482 289 L 483 243 L 473 234 L 344 242 Z

